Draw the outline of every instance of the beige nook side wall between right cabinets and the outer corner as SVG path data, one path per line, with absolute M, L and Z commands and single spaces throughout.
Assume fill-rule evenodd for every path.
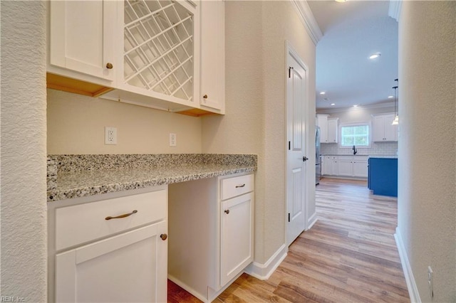
M 252 20 L 256 22 L 252 22 Z M 249 28 L 247 31 L 246 28 Z M 224 117 L 203 117 L 202 151 L 258 154 L 255 178 L 255 260 L 264 260 L 264 83 L 261 4 L 225 2 Z M 259 260 L 261 256 L 261 261 Z

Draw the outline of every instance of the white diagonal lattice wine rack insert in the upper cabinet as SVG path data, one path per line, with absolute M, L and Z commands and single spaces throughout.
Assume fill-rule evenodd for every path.
M 126 0 L 124 83 L 192 102 L 194 16 L 177 1 Z

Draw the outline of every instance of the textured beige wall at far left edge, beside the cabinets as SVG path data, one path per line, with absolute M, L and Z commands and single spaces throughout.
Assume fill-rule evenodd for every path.
M 46 8 L 1 2 L 1 296 L 46 302 Z

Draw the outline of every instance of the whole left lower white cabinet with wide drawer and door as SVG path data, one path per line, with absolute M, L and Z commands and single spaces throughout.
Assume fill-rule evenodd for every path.
M 156 189 L 51 206 L 50 302 L 166 302 L 167 188 Z M 64 222 L 72 229 L 65 230 Z M 80 230 L 86 236 L 73 237 Z

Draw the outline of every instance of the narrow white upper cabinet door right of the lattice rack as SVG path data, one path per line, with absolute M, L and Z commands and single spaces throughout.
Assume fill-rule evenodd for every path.
M 201 90 L 199 102 L 224 113 L 224 1 L 201 1 Z

